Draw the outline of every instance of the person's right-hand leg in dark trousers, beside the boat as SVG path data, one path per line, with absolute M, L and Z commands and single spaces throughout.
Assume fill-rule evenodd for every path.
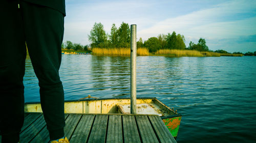
M 39 80 L 40 101 L 50 139 L 64 136 L 64 93 L 59 78 L 63 15 L 51 8 L 22 2 L 25 37 Z

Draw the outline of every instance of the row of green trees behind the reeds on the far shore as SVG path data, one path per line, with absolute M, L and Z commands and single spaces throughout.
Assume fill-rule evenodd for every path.
M 91 47 L 98 48 L 129 48 L 130 47 L 131 30 L 128 23 L 122 22 L 119 27 L 115 23 L 112 24 L 111 33 L 104 31 L 104 26 L 101 23 L 94 23 L 93 28 L 88 35 Z M 167 35 L 160 34 L 158 37 L 148 38 L 142 41 L 139 38 L 137 47 L 146 47 L 150 52 L 156 52 L 159 49 L 191 49 L 198 51 L 209 51 L 206 41 L 200 38 L 198 43 L 189 43 L 189 47 L 185 45 L 185 37 L 181 34 L 168 33 Z

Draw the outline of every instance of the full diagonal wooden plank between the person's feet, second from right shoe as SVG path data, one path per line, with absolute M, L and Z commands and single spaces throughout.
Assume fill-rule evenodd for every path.
M 40 116 L 35 122 L 33 122 L 27 129 L 20 134 L 20 142 L 29 142 L 32 140 L 39 131 L 46 126 L 46 122 L 43 116 Z

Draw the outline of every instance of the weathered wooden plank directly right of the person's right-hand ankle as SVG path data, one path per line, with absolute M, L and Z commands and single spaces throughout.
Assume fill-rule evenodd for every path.
M 68 139 L 71 138 L 78 122 L 80 121 L 81 114 L 70 114 L 66 120 L 66 126 L 64 127 L 65 135 Z

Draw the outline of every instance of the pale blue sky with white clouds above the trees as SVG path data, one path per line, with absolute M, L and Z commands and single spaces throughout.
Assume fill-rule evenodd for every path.
M 66 0 L 63 41 L 89 45 L 95 22 L 106 33 L 113 23 L 137 24 L 137 40 L 159 34 L 184 35 L 185 44 L 206 40 L 210 50 L 256 51 L 256 1 Z

